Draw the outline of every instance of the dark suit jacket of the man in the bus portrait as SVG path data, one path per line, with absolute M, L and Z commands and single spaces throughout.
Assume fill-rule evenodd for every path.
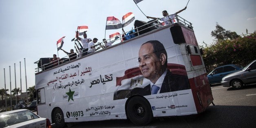
M 163 83 L 160 89 L 160 93 L 167 93 L 177 90 L 190 89 L 190 84 L 187 75 L 173 74 L 167 70 L 166 76 L 163 79 Z M 151 95 L 151 86 L 148 84 L 144 88 L 133 88 L 132 90 L 118 90 L 114 94 L 115 99 L 128 98 L 131 95 Z

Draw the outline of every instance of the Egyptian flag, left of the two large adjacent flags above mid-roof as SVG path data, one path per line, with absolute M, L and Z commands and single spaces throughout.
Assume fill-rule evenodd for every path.
M 107 17 L 106 30 L 120 29 L 121 27 L 122 27 L 122 24 L 121 24 L 120 20 L 118 20 L 114 16 Z

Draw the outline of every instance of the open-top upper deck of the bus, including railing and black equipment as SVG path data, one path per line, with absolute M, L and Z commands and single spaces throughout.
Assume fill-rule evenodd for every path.
M 170 16 L 170 15 L 168 15 L 168 16 Z M 168 17 L 168 16 L 166 16 L 166 17 Z M 98 51 L 96 51 L 94 53 L 90 53 L 88 55 L 84 55 L 82 57 L 79 57 L 79 58 L 77 58 L 75 60 L 71 60 L 71 61 L 69 61 L 69 58 L 68 58 L 68 55 L 67 55 L 65 57 L 60 58 L 60 60 L 62 61 L 62 64 L 59 64 L 59 60 L 58 60 L 58 66 L 67 64 L 68 62 L 73 62 L 73 61 L 79 60 L 79 59 L 87 57 L 89 55 L 93 55 L 95 53 L 98 53 L 98 52 L 110 49 L 111 47 L 114 47 L 114 46 L 126 43 L 126 42 L 132 40 L 132 39 L 123 40 L 123 39 L 125 39 L 126 37 L 129 36 L 126 33 L 129 33 L 131 31 L 135 31 L 134 33 L 131 33 L 131 35 L 134 34 L 136 36 L 134 39 L 136 39 L 136 38 L 139 38 L 141 35 L 144 35 L 145 33 L 148 33 L 150 31 L 152 31 L 152 32 L 158 31 L 158 30 L 161 30 L 163 28 L 173 26 L 174 24 L 179 24 L 181 26 L 184 26 L 184 27 L 187 27 L 188 29 L 193 30 L 191 22 L 188 22 L 187 20 L 181 18 L 179 15 L 176 15 L 176 14 L 172 14 L 172 17 L 174 17 L 174 18 L 169 19 L 169 21 L 175 20 L 175 22 L 172 23 L 172 24 L 167 24 L 167 25 L 163 25 L 163 22 L 160 19 L 150 20 L 148 22 L 143 22 L 143 21 L 135 20 L 135 22 L 137 22 L 137 23 L 135 23 L 135 29 L 132 29 L 132 30 L 130 30 L 128 32 L 125 32 L 125 33 L 121 33 L 119 35 L 119 38 L 116 39 L 116 40 L 115 40 L 115 37 L 110 38 L 110 39 L 107 40 L 108 43 L 113 43 L 115 41 L 120 41 L 119 43 L 117 43 L 117 44 L 115 44 L 113 46 L 110 46 L 110 47 L 108 47 L 106 49 L 99 49 Z M 121 35 L 124 35 L 124 36 L 121 37 Z M 104 42 L 99 42 L 96 45 L 104 45 Z M 77 55 L 79 54 L 79 52 L 75 52 L 75 53 L 77 53 Z M 49 58 L 50 57 L 40 58 L 40 60 L 34 62 L 34 64 L 38 64 L 38 67 L 35 68 L 36 74 L 41 73 L 42 71 L 45 71 L 45 70 L 48 70 L 48 69 L 53 69 L 53 68 L 58 67 L 58 66 L 53 66 L 54 64 L 49 62 Z

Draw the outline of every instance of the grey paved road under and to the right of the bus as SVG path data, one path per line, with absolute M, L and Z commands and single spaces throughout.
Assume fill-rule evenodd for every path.
M 154 119 L 147 126 L 137 127 L 128 120 L 81 122 L 72 128 L 256 128 L 256 85 L 241 90 L 212 87 L 214 104 L 203 113 Z M 53 128 L 56 128 L 53 124 Z

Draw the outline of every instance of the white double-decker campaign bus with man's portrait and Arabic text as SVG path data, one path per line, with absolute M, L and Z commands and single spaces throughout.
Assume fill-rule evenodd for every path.
M 35 62 L 38 115 L 63 127 L 107 119 L 146 125 L 203 112 L 213 97 L 192 24 L 171 20 L 136 20 L 135 37 L 58 66 Z

